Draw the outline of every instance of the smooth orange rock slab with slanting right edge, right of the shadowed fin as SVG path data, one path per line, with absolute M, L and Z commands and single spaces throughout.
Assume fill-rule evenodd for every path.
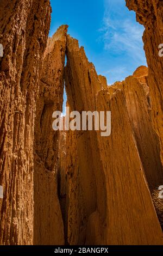
M 122 90 L 117 90 L 111 98 L 108 93 L 99 93 L 98 111 L 107 111 L 108 107 L 112 113 L 111 136 L 101 138 L 98 133 L 107 188 L 106 243 L 162 243 L 162 231 L 148 190 Z M 117 159 L 115 156 L 118 156 Z

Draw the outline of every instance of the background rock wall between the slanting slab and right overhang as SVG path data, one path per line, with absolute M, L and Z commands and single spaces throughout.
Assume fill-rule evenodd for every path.
M 147 81 L 148 69 L 145 66 L 140 66 L 133 76 L 127 77 L 123 82 L 115 83 L 108 90 L 113 93 L 117 89 L 122 89 L 124 92 L 137 149 L 139 150 L 156 212 L 160 223 L 162 223 L 163 208 L 160 199 L 158 199 L 158 187 L 162 184 L 163 169 L 160 159 L 159 138 L 152 125 L 151 98 Z

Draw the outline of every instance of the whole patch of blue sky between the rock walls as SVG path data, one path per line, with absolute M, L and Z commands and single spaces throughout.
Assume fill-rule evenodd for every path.
M 122 81 L 140 65 L 146 65 L 143 26 L 136 22 L 125 0 L 51 0 L 49 36 L 67 24 L 68 34 L 79 40 L 98 74 L 108 84 Z

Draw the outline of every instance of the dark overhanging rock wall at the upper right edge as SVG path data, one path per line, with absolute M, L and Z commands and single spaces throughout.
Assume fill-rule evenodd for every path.
M 148 86 L 152 101 L 152 120 L 158 133 L 163 161 L 163 58 L 159 57 L 159 45 L 163 44 L 163 4 L 160 0 L 126 0 L 129 10 L 136 12 L 137 21 L 145 26 L 143 42 L 149 69 Z

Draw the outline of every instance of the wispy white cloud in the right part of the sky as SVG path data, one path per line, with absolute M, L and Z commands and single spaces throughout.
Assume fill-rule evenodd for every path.
M 126 54 L 137 63 L 145 63 L 143 26 L 133 19 L 132 13 L 130 13 L 131 19 L 130 14 L 126 14 L 128 10 L 124 0 L 107 0 L 105 5 L 103 27 L 100 29 L 105 50 L 117 55 Z

